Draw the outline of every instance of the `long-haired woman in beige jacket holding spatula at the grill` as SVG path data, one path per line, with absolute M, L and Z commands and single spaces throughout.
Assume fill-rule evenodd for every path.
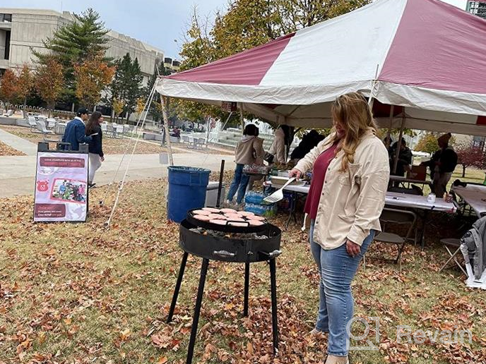
M 305 212 L 309 241 L 321 277 L 319 311 L 312 334 L 328 332 L 326 364 L 348 363 L 353 300 L 351 281 L 380 231 L 379 217 L 389 183 L 388 152 L 377 138 L 367 100 L 342 95 L 332 108 L 334 129 L 290 176 L 313 169 Z

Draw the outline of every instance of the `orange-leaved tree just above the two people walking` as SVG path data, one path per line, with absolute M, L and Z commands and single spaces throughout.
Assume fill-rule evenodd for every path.
M 112 81 L 114 66 L 103 61 L 102 54 L 86 59 L 74 65 L 74 80 L 76 82 L 76 97 L 88 109 L 100 102 L 101 92 Z

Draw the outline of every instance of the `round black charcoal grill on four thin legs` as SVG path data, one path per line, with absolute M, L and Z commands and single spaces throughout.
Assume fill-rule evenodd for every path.
M 223 226 L 201 222 L 198 219 L 192 218 L 191 214 L 188 214 L 187 219 L 181 222 L 179 245 L 184 250 L 184 255 L 182 256 L 179 276 L 177 277 L 174 296 L 172 296 L 172 303 L 170 305 L 169 315 L 167 316 L 167 323 L 172 321 L 174 315 L 188 255 L 191 254 L 203 258 L 186 364 L 192 363 L 192 357 L 194 355 L 199 313 L 201 312 L 204 284 L 206 282 L 206 274 L 210 260 L 244 263 L 244 316 L 248 316 L 250 263 L 268 262 L 271 283 L 273 353 L 277 353 L 278 326 L 275 258 L 282 253 L 280 251 L 280 238 L 280 229 L 277 226 L 268 224 L 268 222 L 265 222 L 262 226 Z

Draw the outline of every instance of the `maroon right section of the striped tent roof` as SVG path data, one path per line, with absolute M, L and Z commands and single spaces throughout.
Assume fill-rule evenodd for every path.
M 378 79 L 486 94 L 485 45 L 486 20 L 440 0 L 408 0 Z

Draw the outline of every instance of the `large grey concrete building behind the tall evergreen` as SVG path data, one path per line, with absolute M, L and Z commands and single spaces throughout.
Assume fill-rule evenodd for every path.
M 18 68 L 27 63 L 34 68 L 32 49 L 47 51 L 42 43 L 53 35 L 57 28 L 75 21 L 69 11 L 59 13 L 52 10 L 27 8 L 0 8 L 0 72 L 6 68 Z M 107 56 L 114 59 L 127 52 L 137 58 L 144 76 L 144 83 L 155 70 L 155 64 L 163 61 L 167 68 L 177 69 L 179 63 L 165 58 L 157 47 L 141 42 L 114 30 L 107 34 Z

